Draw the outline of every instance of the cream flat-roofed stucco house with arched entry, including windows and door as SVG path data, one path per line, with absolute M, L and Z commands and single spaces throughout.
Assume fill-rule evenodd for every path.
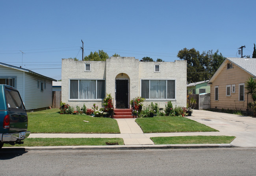
M 61 100 L 71 106 L 102 107 L 106 94 L 114 108 L 130 108 L 130 100 L 145 98 L 165 108 L 167 101 L 186 106 L 187 61 L 141 62 L 134 57 L 106 61 L 62 59 Z

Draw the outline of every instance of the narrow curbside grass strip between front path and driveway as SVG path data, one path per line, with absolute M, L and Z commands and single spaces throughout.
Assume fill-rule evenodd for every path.
M 173 136 L 152 137 L 155 144 L 229 144 L 235 136 Z

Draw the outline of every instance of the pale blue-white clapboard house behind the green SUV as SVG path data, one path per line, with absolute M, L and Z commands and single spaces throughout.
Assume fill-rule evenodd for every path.
M 17 88 L 26 110 L 52 106 L 52 81 L 56 80 L 0 62 L 0 84 Z

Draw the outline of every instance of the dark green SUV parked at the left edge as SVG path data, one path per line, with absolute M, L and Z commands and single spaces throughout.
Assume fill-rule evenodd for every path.
M 4 143 L 22 144 L 30 135 L 27 129 L 28 115 L 19 91 L 0 84 L 0 148 Z

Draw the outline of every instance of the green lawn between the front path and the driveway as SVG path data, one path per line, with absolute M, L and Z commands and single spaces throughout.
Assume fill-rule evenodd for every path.
M 144 133 L 218 131 L 186 117 L 148 117 L 135 120 Z

